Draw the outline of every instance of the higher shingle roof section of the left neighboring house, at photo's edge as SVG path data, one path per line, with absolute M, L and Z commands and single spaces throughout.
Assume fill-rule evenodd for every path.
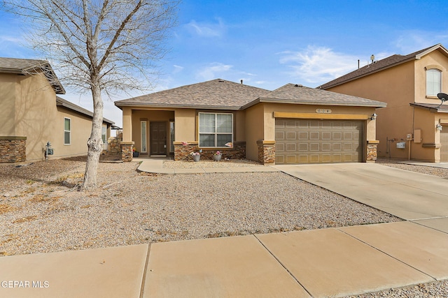
M 52 70 L 48 61 L 36 59 L 16 59 L 0 57 L 0 73 L 17 73 L 22 75 L 29 75 L 36 72 L 36 69 L 41 71 L 56 94 L 65 94 L 64 87 L 57 79 L 57 76 Z

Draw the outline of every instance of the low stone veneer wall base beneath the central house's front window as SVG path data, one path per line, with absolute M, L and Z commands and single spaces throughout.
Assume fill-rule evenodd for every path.
M 193 161 L 190 155 L 192 152 L 201 152 L 201 160 L 211 160 L 216 151 L 222 154 L 221 160 L 225 158 L 230 159 L 244 159 L 246 158 L 246 142 L 234 142 L 232 148 L 200 148 L 197 141 L 192 142 L 174 142 L 174 161 Z

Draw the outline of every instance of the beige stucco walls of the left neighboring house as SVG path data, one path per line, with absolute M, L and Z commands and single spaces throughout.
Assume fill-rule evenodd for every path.
M 2 107 L 8 107 L 0 112 L 0 121 L 4 124 L 0 126 L 0 135 L 27 137 L 27 161 L 43 160 L 47 142 L 54 149 L 50 158 L 87 154 L 92 119 L 57 106 L 55 91 L 43 75 L 1 75 L 0 78 L 1 91 L 7 94 L 1 96 Z M 6 113 L 9 117 L 5 121 L 3 114 Z M 64 145 L 64 117 L 71 119 L 70 145 Z

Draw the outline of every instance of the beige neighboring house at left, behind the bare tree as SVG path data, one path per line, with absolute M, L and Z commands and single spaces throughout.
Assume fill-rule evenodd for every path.
M 0 58 L 0 163 L 87 154 L 92 112 L 59 98 L 65 94 L 48 61 Z M 103 121 L 104 141 L 112 121 Z

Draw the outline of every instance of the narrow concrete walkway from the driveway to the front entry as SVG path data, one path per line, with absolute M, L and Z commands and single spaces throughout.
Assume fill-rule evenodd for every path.
M 157 174 L 199 174 L 199 173 L 225 173 L 225 172 L 280 172 L 280 170 L 269 165 L 254 165 L 246 167 L 231 167 L 232 163 L 228 163 L 227 167 L 200 167 L 200 168 L 179 168 L 167 169 L 163 167 L 162 159 L 142 159 L 137 170 L 141 172 L 157 173 Z

